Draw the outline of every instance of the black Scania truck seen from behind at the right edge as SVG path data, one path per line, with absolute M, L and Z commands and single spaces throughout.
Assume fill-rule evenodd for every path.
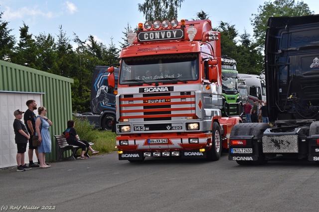
M 319 15 L 270 17 L 265 43 L 269 120 L 241 123 L 229 160 L 264 164 L 283 158 L 319 163 Z

